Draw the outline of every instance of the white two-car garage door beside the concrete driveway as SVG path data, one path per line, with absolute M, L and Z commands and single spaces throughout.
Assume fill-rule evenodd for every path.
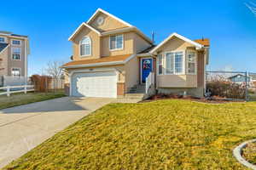
M 74 73 L 72 95 L 78 97 L 117 97 L 117 75 L 114 71 Z

